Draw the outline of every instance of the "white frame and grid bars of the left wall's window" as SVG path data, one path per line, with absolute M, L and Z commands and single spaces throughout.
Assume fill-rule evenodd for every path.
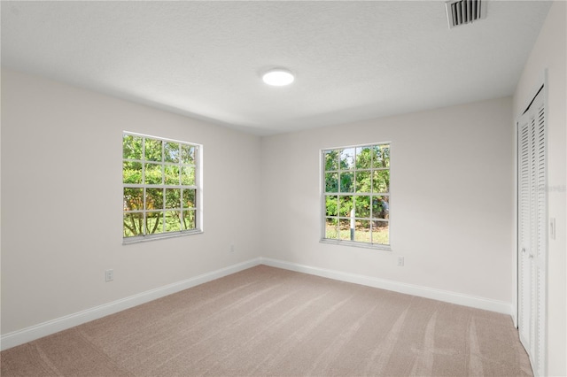
M 168 139 L 168 138 L 164 138 L 164 137 L 159 137 L 159 136 L 153 136 L 153 135 L 144 135 L 144 134 L 138 134 L 138 133 L 134 133 L 134 132 L 129 132 L 129 131 L 123 131 L 122 132 L 122 140 L 124 140 L 125 136 L 135 136 L 135 137 L 141 137 L 143 138 L 144 142 L 143 142 L 143 146 L 142 146 L 142 157 L 141 159 L 131 159 L 131 158 L 124 158 L 124 155 L 122 154 L 122 170 L 121 170 L 121 174 L 122 174 L 122 204 L 123 204 L 123 208 L 122 208 L 122 243 L 123 244 L 129 244 L 129 243 L 136 243 L 136 242 L 144 242 L 144 241 L 152 241 L 152 240 L 159 240 L 159 239 L 164 239 L 164 238 L 171 238 L 171 237 L 178 237 L 178 236 L 183 236 L 183 235 L 196 235 L 196 234 L 201 234 L 203 233 L 203 174 L 202 174 L 202 166 L 203 166 L 203 145 L 202 144 L 197 144 L 197 143 L 193 143 L 193 142 L 183 142 L 183 141 L 179 141 L 179 140 L 175 140 L 175 139 Z M 153 160 L 148 160 L 145 158 L 145 140 L 157 140 L 159 142 L 162 142 L 161 144 L 161 160 L 160 161 L 153 161 Z M 193 154 L 193 159 L 194 159 L 194 163 L 193 164 L 183 164 L 183 161 L 181 160 L 181 158 L 179 159 L 179 162 L 167 162 L 166 158 L 165 158 L 165 146 L 167 142 L 174 142 L 174 143 L 178 143 L 180 144 L 180 148 L 183 145 L 189 146 L 190 148 L 194 148 L 194 154 Z M 181 152 L 180 152 L 181 153 Z M 141 183 L 124 183 L 124 163 L 138 163 L 142 165 L 142 182 Z M 152 164 L 152 165 L 159 165 L 161 166 L 161 176 L 162 176 L 162 182 L 161 184 L 149 184 L 145 182 L 145 177 L 146 177 L 146 173 L 145 173 L 145 169 L 146 169 L 146 165 L 147 164 Z M 183 178 L 182 175 L 180 174 L 180 181 L 178 182 L 178 184 L 172 184 L 171 182 L 166 183 L 164 181 L 165 177 L 165 168 L 166 166 L 177 166 L 180 171 L 181 169 L 183 169 L 183 167 L 193 167 L 194 168 L 194 184 L 183 184 Z M 142 188 L 144 190 L 144 207 L 141 209 L 136 209 L 136 210 L 127 210 L 127 204 L 126 204 L 126 200 L 124 198 L 124 192 L 125 192 L 125 188 Z M 163 208 L 161 209 L 148 209 L 146 208 L 146 190 L 150 188 L 150 189 L 163 189 L 164 190 L 164 203 L 163 203 Z M 175 211 L 180 211 L 182 213 L 183 216 L 183 212 L 190 212 L 190 211 L 194 211 L 195 212 L 195 227 L 194 228 L 190 228 L 190 229 L 182 229 L 182 230 L 175 230 L 175 231 L 166 231 L 166 213 L 167 213 L 167 204 L 166 204 L 166 190 L 167 188 L 174 188 L 174 189 L 180 189 L 180 207 L 178 208 L 173 208 L 173 209 L 169 209 L 171 211 L 175 210 Z M 195 190 L 195 198 L 194 198 L 194 204 L 191 207 L 183 207 L 183 190 L 184 189 L 190 189 L 190 190 Z M 163 217 L 162 217 L 162 232 L 158 233 L 158 234 L 147 234 L 147 230 L 145 229 L 146 227 L 146 216 L 149 213 L 158 213 L 158 212 L 163 212 Z M 143 235 L 135 235 L 135 236 L 124 236 L 124 216 L 127 213 L 141 213 L 143 215 L 143 223 L 144 223 L 144 234 Z

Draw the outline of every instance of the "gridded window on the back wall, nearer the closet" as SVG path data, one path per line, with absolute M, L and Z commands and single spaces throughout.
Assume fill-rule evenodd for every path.
M 322 150 L 322 241 L 389 248 L 390 144 Z

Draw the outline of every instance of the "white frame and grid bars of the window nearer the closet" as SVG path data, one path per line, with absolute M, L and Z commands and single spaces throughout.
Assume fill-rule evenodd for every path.
M 375 146 L 388 146 L 389 150 L 390 150 L 390 156 L 389 156 L 389 165 L 387 168 L 375 168 L 374 166 L 372 166 L 371 168 L 360 168 L 357 169 L 356 168 L 356 163 L 355 161 L 353 161 L 353 169 L 341 169 L 340 165 L 338 166 L 338 170 L 337 171 L 326 171 L 326 160 L 325 160 L 325 153 L 330 151 L 330 150 L 349 150 L 349 149 L 353 149 L 356 150 L 356 148 L 366 148 L 366 147 L 375 147 Z M 356 153 L 354 153 L 354 155 L 356 155 Z M 345 245 L 345 246 L 353 246 L 353 247 L 360 247 L 360 248 L 369 248 L 369 249 L 377 249 L 377 250 L 392 250 L 392 183 L 390 182 L 389 184 L 389 189 L 387 192 L 374 192 L 374 193 L 356 193 L 356 172 L 364 172 L 364 171 L 369 171 L 369 172 L 374 172 L 374 171 L 379 171 L 379 170 L 387 170 L 389 171 L 389 174 L 391 174 L 392 172 L 392 142 L 373 142 L 373 143 L 369 143 L 369 144 L 357 144 L 357 145 L 348 145 L 348 146 L 339 146 L 339 147 L 331 147 L 331 148 L 324 148 L 322 150 L 320 150 L 319 153 L 320 156 L 320 190 L 319 192 L 321 193 L 321 240 L 320 242 L 322 243 L 330 243 L 330 244 L 336 244 L 336 245 Z M 326 191 L 326 180 L 325 180 L 325 173 L 333 173 L 333 172 L 337 172 L 338 174 L 340 174 L 341 172 L 353 172 L 353 185 L 354 185 L 354 189 L 353 192 L 346 192 L 346 193 L 342 193 L 340 192 L 340 180 L 338 181 L 338 192 L 327 192 Z M 340 175 L 338 175 L 340 177 Z M 390 175 L 391 177 L 391 175 Z M 369 218 L 357 218 L 355 217 L 354 219 L 364 219 L 364 220 L 369 220 L 370 222 L 372 222 L 373 220 L 379 220 L 379 221 L 386 221 L 388 223 L 388 243 L 377 243 L 377 242 L 361 242 L 361 241 L 353 241 L 353 240 L 346 240 L 346 239 L 336 239 L 336 238 L 326 238 L 326 225 L 327 222 L 326 220 L 328 218 L 330 218 L 329 216 L 327 216 L 327 207 L 326 207 L 326 196 L 328 195 L 343 195 L 344 196 L 388 196 L 388 217 L 387 219 L 381 219 L 381 218 L 376 218 L 373 217 L 372 215 L 372 210 L 371 214 L 369 216 Z M 371 199 L 372 200 L 372 199 Z M 372 202 L 371 202 L 372 203 Z M 372 207 L 372 204 L 370 204 L 370 207 Z M 339 210 L 338 210 L 339 211 Z M 335 216 L 332 216 L 335 217 Z M 338 216 L 336 216 L 337 219 L 348 219 L 345 216 L 340 216 L 340 213 L 338 213 Z M 352 225 L 353 223 L 351 222 L 351 227 L 353 227 Z M 371 233 L 371 231 L 370 231 Z

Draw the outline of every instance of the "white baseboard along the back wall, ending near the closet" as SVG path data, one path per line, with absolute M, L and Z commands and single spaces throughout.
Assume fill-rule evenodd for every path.
M 510 316 L 513 315 L 512 303 L 491 300 L 484 297 L 463 295 L 461 293 L 451 292 L 447 290 L 431 289 L 428 287 L 416 286 L 412 284 L 401 283 L 398 281 L 387 281 L 370 276 L 359 275 L 355 273 L 343 273 L 340 271 L 312 267 L 309 265 L 299 265 L 297 263 L 291 263 L 271 258 L 260 258 L 260 263 L 262 265 L 270 265 L 272 267 L 283 268 L 285 270 L 291 270 L 298 273 L 309 273 L 312 275 L 322 276 L 338 281 L 347 281 L 366 285 L 369 287 L 405 293 L 407 295 L 431 298 L 451 304 L 470 306 L 477 309 L 483 309 L 485 311 L 500 312 L 503 314 L 509 314 Z

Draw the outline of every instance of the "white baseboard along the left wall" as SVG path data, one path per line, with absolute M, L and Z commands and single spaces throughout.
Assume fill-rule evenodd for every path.
M 0 349 L 7 350 L 19 344 L 31 342 L 35 339 L 42 338 L 43 336 L 55 334 L 59 331 L 66 330 L 67 328 L 75 327 L 91 320 L 103 318 L 107 315 L 121 312 L 136 305 L 145 304 L 157 298 L 171 295 L 182 291 L 183 289 L 190 289 L 198 286 L 199 284 L 206 283 L 207 281 L 214 281 L 215 279 L 219 279 L 231 273 L 243 271 L 247 268 L 253 267 L 254 265 L 260 265 L 260 258 L 254 258 L 237 265 L 229 265 L 228 267 L 221 268 L 220 270 L 216 270 L 211 273 L 203 273 L 185 281 L 178 281 L 134 296 L 121 298 L 120 300 L 113 301 L 112 303 L 99 305 L 82 312 L 76 312 L 74 314 L 66 315 L 65 317 L 58 319 L 52 319 L 32 327 L 13 331 L 12 333 L 0 336 Z

